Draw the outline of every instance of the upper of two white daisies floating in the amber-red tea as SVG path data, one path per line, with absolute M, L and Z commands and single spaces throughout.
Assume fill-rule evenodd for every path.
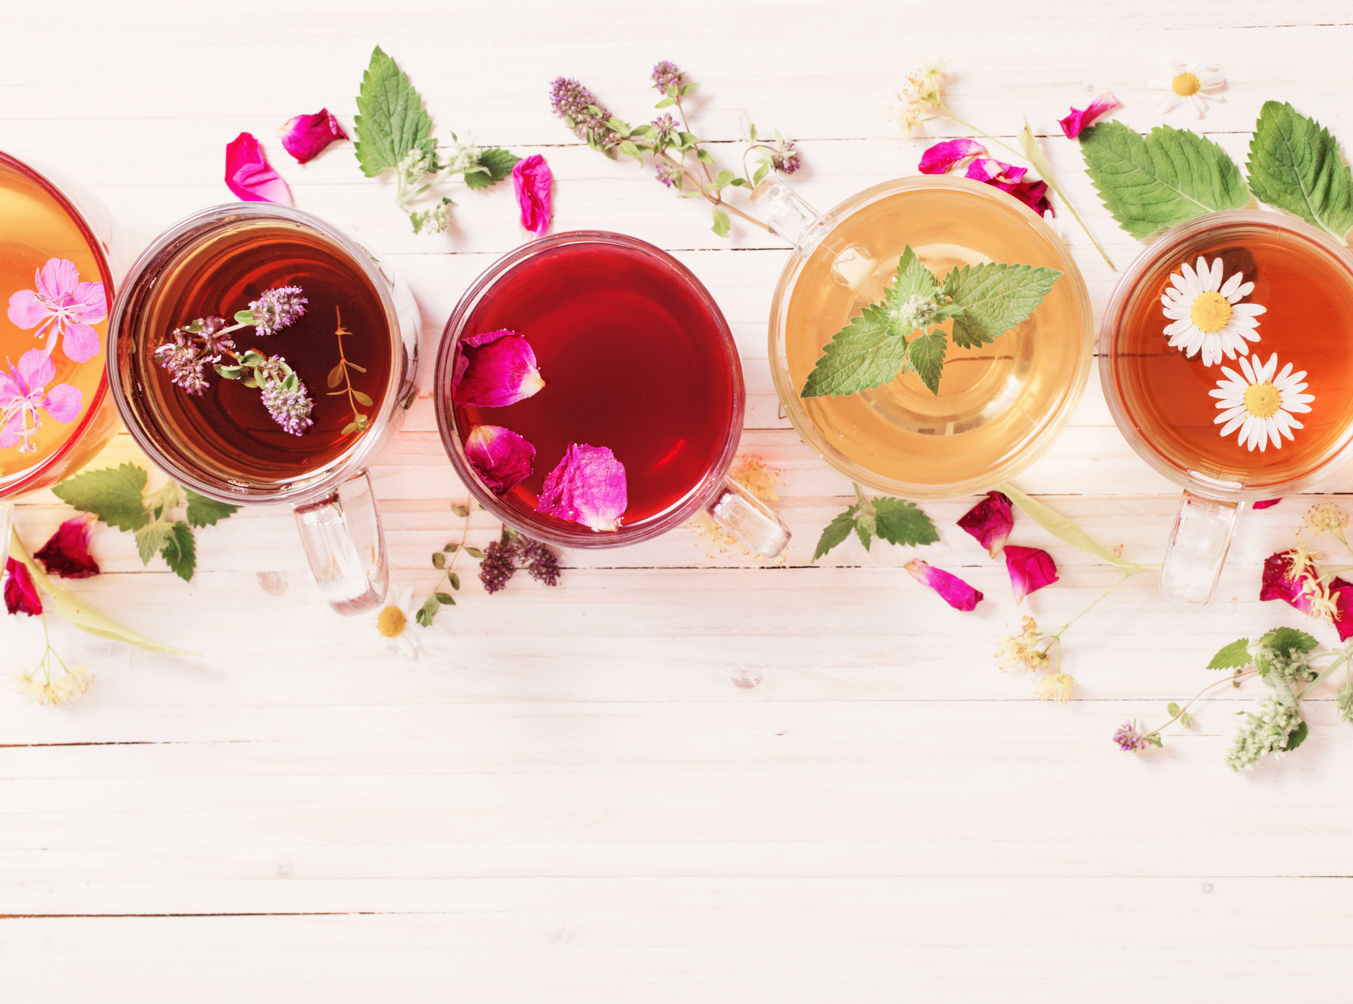
M 1201 349 L 1206 367 L 1220 363 L 1223 353 L 1235 359 L 1239 352 L 1243 359 L 1249 352 L 1246 340 L 1260 340 L 1254 330 L 1260 322 L 1254 318 L 1266 310 L 1258 303 L 1239 302 L 1254 291 L 1254 283 L 1246 283 L 1243 272 L 1223 283 L 1220 258 L 1212 258 L 1208 268 L 1199 257 L 1193 268 L 1184 263 L 1180 272 L 1170 273 L 1173 288 L 1161 296 L 1165 317 L 1173 322 L 1165 327 L 1170 348 L 1183 349 L 1189 357 Z

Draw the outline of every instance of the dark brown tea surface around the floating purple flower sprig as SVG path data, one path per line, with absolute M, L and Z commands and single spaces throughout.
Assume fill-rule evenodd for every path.
M 300 287 L 299 319 L 262 337 L 233 333 L 238 352 L 281 356 L 314 401 L 300 436 L 268 413 L 260 391 L 207 371 L 191 395 L 158 365 L 156 346 L 195 318 L 230 319 L 271 288 Z M 248 221 L 215 230 L 160 272 L 131 327 L 135 380 L 146 418 L 181 460 L 210 478 L 277 487 L 329 467 L 350 451 L 384 405 L 394 342 L 380 294 L 346 252 L 294 223 Z M 231 360 L 223 360 L 230 363 Z

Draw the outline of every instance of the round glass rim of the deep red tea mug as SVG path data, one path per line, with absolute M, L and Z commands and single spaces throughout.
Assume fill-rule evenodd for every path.
M 464 334 L 465 322 L 469 319 L 469 315 L 474 313 L 474 309 L 479 304 L 480 299 L 483 299 L 484 294 L 487 294 L 495 283 L 522 263 L 536 257 L 541 252 L 570 244 L 605 244 L 629 248 L 648 254 L 681 276 L 687 288 L 708 309 L 710 318 L 714 321 L 714 327 L 718 332 L 728 353 L 729 373 L 733 383 L 733 414 L 729 421 L 728 434 L 725 436 L 724 448 L 720 452 L 718 459 L 709 468 L 705 483 L 693 488 L 679 505 L 674 506 L 663 517 L 641 526 L 622 526 L 613 533 L 598 533 L 582 525 L 579 525 L 579 530 L 576 533 L 555 526 L 545 526 L 522 517 L 515 509 L 505 505 L 497 495 L 484 487 L 483 482 L 474 472 L 474 468 L 465 459 L 464 447 L 455 428 L 453 407 L 451 406 L 451 376 L 452 363 L 456 357 L 456 345 Z M 437 346 L 437 361 L 433 367 L 433 410 L 437 413 L 437 432 L 441 434 L 442 448 L 451 459 L 456 476 L 465 487 L 465 491 L 468 491 L 487 511 L 492 513 L 497 520 L 506 524 L 511 529 L 518 533 L 524 533 L 533 540 L 540 540 L 556 547 L 583 549 L 628 547 L 630 544 L 652 540 L 653 537 L 675 529 L 681 524 L 690 520 L 691 516 L 706 506 L 723 490 L 724 478 L 728 474 L 728 468 L 733 463 L 733 457 L 737 453 L 737 444 L 741 440 L 746 406 L 747 392 L 743 382 L 741 357 L 737 353 L 737 342 L 733 340 L 733 333 L 728 326 L 728 319 L 724 317 L 724 311 L 718 309 L 718 303 L 714 302 L 713 295 L 705 284 L 700 281 L 694 272 L 662 248 L 637 237 L 629 237 L 628 234 L 618 234 L 610 230 L 566 230 L 563 233 L 549 234 L 548 237 L 528 241 L 494 261 L 479 275 L 478 279 L 475 279 L 474 283 L 469 284 L 469 287 L 465 288 L 460 300 L 456 303 L 455 310 L 452 310 L 451 317 L 446 319 L 446 325 L 442 327 L 441 341 Z

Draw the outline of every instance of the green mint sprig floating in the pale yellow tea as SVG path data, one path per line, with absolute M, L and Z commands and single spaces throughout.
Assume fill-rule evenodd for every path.
M 858 394 L 912 371 L 939 396 L 944 322 L 953 318 L 961 348 L 985 345 L 1032 314 L 1061 276 L 1055 268 L 989 263 L 955 267 L 940 283 L 908 245 L 884 299 L 832 336 L 800 396 Z

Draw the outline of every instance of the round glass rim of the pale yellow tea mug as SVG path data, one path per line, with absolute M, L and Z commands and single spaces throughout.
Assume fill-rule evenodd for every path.
M 789 363 L 783 346 L 785 318 L 789 313 L 789 304 L 793 298 L 793 291 L 798 283 L 798 277 L 802 273 L 804 267 L 808 264 L 812 250 L 816 250 L 821 241 L 827 239 L 827 237 L 835 231 L 842 222 L 850 219 L 856 212 L 861 212 L 886 196 L 920 188 L 950 188 L 953 191 L 977 195 L 1004 211 L 1023 216 L 1024 222 L 1028 223 L 1030 227 L 1047 242 L 1050 249 L 1053 249 L 1058 258 L 1058 267 L 1065 276 L 1072 280 L 1077 314 L 1081 319 L 1081 353 L 1076 372 L 1072 375 L 1070 380 L 1065 383 L 1057 406 L 1043 419 L 1040 428 L 1031 434 L 1030 442 L 1023 449 L 1016 451 L 1012 456 L 1003 459 L 1003 461 L 997 465 L 986 468 L 971 478 L 939 484 L 902 482 L 892 478 L 884 478 L 870 471 L 867 467 L 863 467 L 862 464 L 840 455 L 839 451 L 836 451 L 835 447 L 827 441 L 827 437 L 817 429 L 813 419 L 802 407 L 797 388 L 789 383 Z M 1081 396 L 1085 394 L 1085 384 L 1089 380 L 1091 372 L 1091 359 L 1095 352 L 1095 315 L 1091 307 L 1089 291 L 1085 287 L 1085 279 L 1081 275 L 1080 267 L 1076 264 L 1076 258 L 1072 256 L 1070 248 L 1066 246 L 1066 242 L 1042 216 L 1024 206 L 1015 196 L 970 179 L 955 177 L 951 175 L 908 175 L 889 181 L 881 181 L 847 196 L 831 210 L 824 212 L 820 219 L 812 225 L 810 231 L 819 235 L 819 239 L 813 242 L 812 250 L 809 254 L 802 254 L 796 246 L 790 252 L 790 257 L 789 261 L 785 263 L 785 268 L 781 271 L 779 281 L 775 284 L 775 294 L 771 299 L 770 309 L 767 342 L 771 382 L 775 387 L 775 394 L 779 398 L 781 406 L 789 418 L 790 425 L 794 428 L 794 432 L 798 433 L 800 440 L 802 440 L 809 449 L 827 463 L 828 467 L 846 475 L 852 482 L 858 482 L 859 484 L 873 488 L 874 491 L 884 491 L 915 501 L 935 502 L 959 498 L 963 495 L 981 494 L 994 488 L 1024 471 L 1053 447 L 1062 430 L 1066 428 L 1068 422 L 1070 422 L 1076 407 L 1081 402 Z

